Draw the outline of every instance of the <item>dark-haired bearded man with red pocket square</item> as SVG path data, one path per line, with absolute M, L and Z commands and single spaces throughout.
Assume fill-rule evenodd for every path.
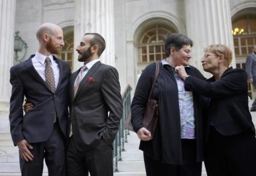
M 112 143 L 122 117 L 122 98 L 117 70 L 100 62 L 104 49 L 105 40 L 98 33 L 85 33 L 76 48 L 84 65 L 69 79 L 69 176 L 113 175 Z

